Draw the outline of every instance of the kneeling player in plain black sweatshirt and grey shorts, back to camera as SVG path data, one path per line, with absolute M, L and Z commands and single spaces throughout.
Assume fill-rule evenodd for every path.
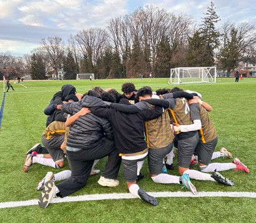
M 95 101 L 99 101 L 96 106 Z M 105 117 L 111 121 L 115 136 L 116 149 L 122 157 L 128 190 L 134 196 L 156 206 L 158 201 L 154 197 L 148 195 L 138 186 L 138 184 L 136 184 L 136 178 L 137 162 L 144 161 L 148 154 L 148 145 L 145 142 L 144 136 L 145 121 L 161 116 L 163 113 L 162 107 L 155 107 L 155 109 L 147 109 L 134 114 L 128 114 L 106 107 L 103 101 L 100 104 L 100 99 L 87 97 L 82 104 L 84 107 L 89 107 L 93 114 Z M 128 99 L 121 99 L 120 104 L 130 103 Z M 98 183 L 101 184 L 101 179 Z

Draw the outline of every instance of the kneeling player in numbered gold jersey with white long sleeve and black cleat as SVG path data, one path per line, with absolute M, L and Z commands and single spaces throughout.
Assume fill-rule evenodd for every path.
M 175 88 L 175 91 L 180 90 Z M 227 186 L 233 186 L 233 181 L 223 177 L 218 172 L 214 172 L 210 175 L 189 169 L 191 157 L 199 141 L 198 130 L 202 127 L 200 121 L 200 107 L 197 104 L 190 107 L 185 98 L 173 99 L 172 97 L 172 93 L 163 94 L 163 98 L 169 103 L 168 107 L 172 114 L 170 117 L 178 139 L 178 171 L 180 175 L 182 176 L 185 172 L 189 175 L 190 179 L 217 181 Z M 161 100 L 153 100 L 154 99 L 149 99 L 145 101 L 157 105 L 161 103 Z M 193 123 L 191 120 L 193 120 Z

